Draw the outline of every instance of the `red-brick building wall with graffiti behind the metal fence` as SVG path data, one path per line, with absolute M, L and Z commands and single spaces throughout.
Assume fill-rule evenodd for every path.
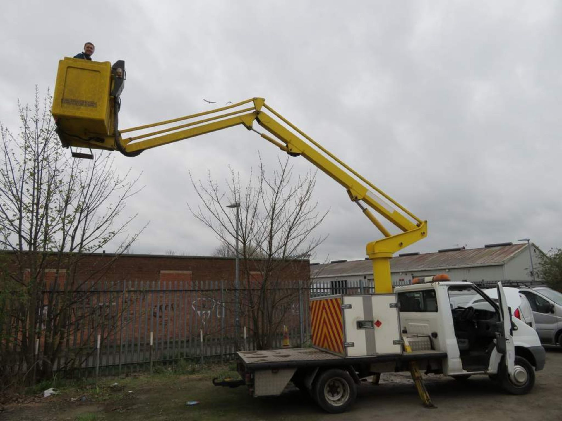
M 251 268 L 249 282 L 244 280 L 242 262 L 240 264 L 242 313 L 248 305 L 247 294 L 256 295 L 252 291 L 244 292 L 244 289 L 248 286 L 259 288 L 262 282 L 258 264 L 255 262 L 255 267 Z M 41 322 L 46 318 L 47 301 L 60 297 L 65 281 L 71 276 L 66 268 L 56 271 L 54 266 L 53 261 L 44 271 L 45 307 L 38 314 L 42 331 L 40 346 L 43 346 L 44 336 L 51 331 L 49 324 Z M 280 279 L 276 287 L 295 289 L 300 281 L 306 287 L 309 274 L 307 260 L 288 262 L 274 273 Z M 29 278 L 29 270 L 25 271 L 25 277 Z M 121 338 L 124 341 L 144 340 L 144 332 L 152 330 L 156 341 L 167 338 L 170 328 L 172 336 L 189 335 L 201 329 L 218 335 L 221 327 L 229 335 L 233 331 L 234 278 L 234 258 L 131 254 L 115 259 L 114 255 L 101 253 L 85 256 L 80 260 L 76 281 L 83 282 L 79 291 L 88 292 L 84 292 L 85 299 L 72 305 L 71 317 L 76 322 L 67 332 L 72 338 L 69 345 L 93 344 L 98 333 L 103 341 L 112 343 Z M 221 286 L 225 288 L 222 295 Z M 221 300 L 225 304 L 225 321 L 221 321 Z M 287 314 L 283 323 L 298 327 L 298 302 L 294 305 L 295 311 Z M 123 309 L 126 312 L 121 317 Z M 99 325 L 101 320 L 102 326 Z M 243 319 L 241 323 L 246 326 L 248 321 Z

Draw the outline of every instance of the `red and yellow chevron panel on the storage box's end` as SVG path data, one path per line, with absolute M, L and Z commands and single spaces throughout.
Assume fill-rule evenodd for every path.
M 342 299 L 312 300 L 310 313 L 312 346 L 345 356 Z

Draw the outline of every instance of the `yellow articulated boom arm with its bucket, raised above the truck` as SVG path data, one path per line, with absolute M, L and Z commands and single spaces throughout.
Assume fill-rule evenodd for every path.
M 123 90 L 124 62 L 92 62 L 73 58 L 61 60 L 58 67 L 52 114 L 65 147 L 119 150 L 135 156 L 143 150 L 192 138 L 227 127 L 242 125 L 292 156 L 302 156 L 341 184 L 352 202 L 384 235 L 369 242 L 366 253 L 373 261 L 375 292 L 392 292 L 390 259 L 397 251 L 427 235 L 422 221 L 377 186 L 348 167 L 335 155 L 292 125 L 264 98 L 251 98 L 226 107 L 149 125 L 119 130 L 119 95 Z M 268 133 L 255 130 L 257 122 Z M 162 127 L 155 130 L 155 127 Z M 125 137 L 128 136 L 128 137 Z M 75 154 L 81 158 L 92 155 Z M 391 234 L 375 214 L 398 228 Z

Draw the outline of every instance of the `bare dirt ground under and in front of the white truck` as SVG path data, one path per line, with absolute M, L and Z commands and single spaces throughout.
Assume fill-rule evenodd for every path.
M 540 420 L 562 419 L 562 349 L 547 349 L 545 370 L 537 373 L 529 395 L 513 396 L 485 376 L 455 381 L 428 376 L 425 384 L 437 409 L 423 408 L 406 374 L 382 378 L 379 386 L 361 385 L 355 405 L 344 414 L 323 413 L 298 391 L 279 397 L 254 399 L 242 387 L 217 388 L 208 378 L 175 377 L 171 381 L 146 382 L 121 399 L 76 402 L 61 396 L 52 402 L 11 405 L 0 412 L 2 420 L 75 420 L 80 414 L 96 414 L 98 420 Z M 131 386 L 133 387 L 133 386 Z M 196 406 L 185 401 L 197 400 Z

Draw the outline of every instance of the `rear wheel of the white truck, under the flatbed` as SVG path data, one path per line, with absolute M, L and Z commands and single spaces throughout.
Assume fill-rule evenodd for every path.
M 312 397 L 323 410 L 338 414 L 345 411 L 357 395 L 355 383 L 346 370 L 330 369 L 320 374 L 312 386 Z

